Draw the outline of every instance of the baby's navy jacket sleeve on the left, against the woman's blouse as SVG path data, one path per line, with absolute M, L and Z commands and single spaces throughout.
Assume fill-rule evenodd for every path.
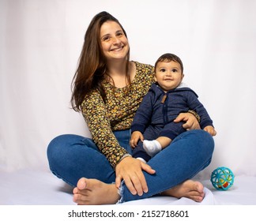
M 134 121 L 131 125 L 131 132 L 140 131 L 144 133 L 146 127 L 149 125 L 152 117 L 152 92 L 148 92 L 141 101 L 136 114 L 134 116 Z

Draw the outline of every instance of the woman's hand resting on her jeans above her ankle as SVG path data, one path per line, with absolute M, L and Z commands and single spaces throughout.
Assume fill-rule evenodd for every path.
M 149 174 L 155 174 L 156 170 L 141 162 L 139 159 L 127 156 L 115 167 L 115 185 L 117 188 L 121 185 L 121 181 L 124 180 L 126 187 L 133 195 L 141 196 L 143 193 L 148 192 L 148 185 L 145 180 L 145 176 L 142 173 L 145 170 Z

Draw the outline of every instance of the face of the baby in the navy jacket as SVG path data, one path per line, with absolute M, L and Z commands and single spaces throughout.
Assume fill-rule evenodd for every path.
M 155 80 L 165 91 L 177 88 L 183 81 L 184 74 L 178 62 L 159 62 L 156 66 Z

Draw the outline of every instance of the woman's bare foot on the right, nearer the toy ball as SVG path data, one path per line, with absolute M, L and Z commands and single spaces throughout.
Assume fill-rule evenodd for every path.
M 205 197 L 204 186 L 201 182 L 194 182 L 192 180 L 187 180 L 180 185 L 176 185 L 164 191 L 161 195 L 176 198 L 186 197 L 196 202 L 201 202 Z

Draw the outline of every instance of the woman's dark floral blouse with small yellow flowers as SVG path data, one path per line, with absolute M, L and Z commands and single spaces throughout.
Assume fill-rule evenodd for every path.
M 130 91 L 126 88 L 115 88 L 107 81 L 103 81 L 106 92 L 106 103 L 98 90 L 92 90 L 81 105 L 82 114 L 92 140 L 115 168 L 119 160 L 125 155 L 126 149 L 119 145 L 113 131 L 130 129 L 142 98 L 149 91 L 154 82 L 154 67 L 134 62 L 136 74 L 130 84 Z

